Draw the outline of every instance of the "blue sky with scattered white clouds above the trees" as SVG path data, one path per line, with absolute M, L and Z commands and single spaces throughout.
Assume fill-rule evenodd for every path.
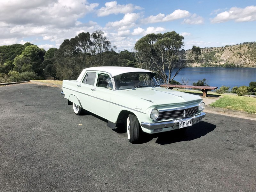
M 148 33 L 175 31 L 184 49 L 255 41 L 255 0 L 0 0 L 0 45 L 48 50 L 78 33 L 102 30 L 116 51 Z

